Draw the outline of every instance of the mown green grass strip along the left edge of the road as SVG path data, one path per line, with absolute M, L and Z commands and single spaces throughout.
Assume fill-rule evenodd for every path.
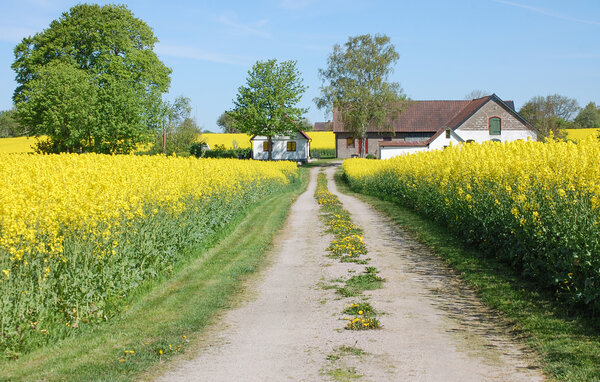
M 199 342 L 202 329 L 231 305 L 247 275 L 264 263 L 289 207 L 306 188 L 307 171 L 300 174 L 295 189 L 269 197 L 238 217 L 212 248 L 205 245 L 182 254 L 191 258 L 186 266 L 145 288 L 118 317 L 2 362 L 0 380 L 128 381 Z

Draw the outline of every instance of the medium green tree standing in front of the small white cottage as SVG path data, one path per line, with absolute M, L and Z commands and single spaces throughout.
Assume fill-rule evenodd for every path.
M 228 114 L 239 131 L 267 137 L 271 160 L 272 138 L 299 129 L 298 121 L 307 110 L 296 105 L 305 90 L 296 61 L 258 61 L 248 72 L 246 86 L 238 89 L 235 108 Z

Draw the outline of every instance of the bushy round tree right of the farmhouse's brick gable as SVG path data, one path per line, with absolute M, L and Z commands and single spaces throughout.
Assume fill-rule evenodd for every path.
M 519 110 L 519 114 L 538 129 L 538 138 L 543 139 L 551 132 L 555 137 L 563 138 L 562 130 L 572 126 L 573 115 L 578 110 L 576 100 L 551 94 L 531 98 Z

